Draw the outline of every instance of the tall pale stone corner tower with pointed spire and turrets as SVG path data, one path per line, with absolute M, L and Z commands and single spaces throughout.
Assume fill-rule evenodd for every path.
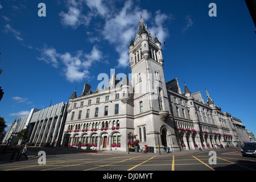
M 163 72 L 162 48 L 156 35 L 153 38 L 148 32 L 142 16 L 135 39 L 131 39 L 129 59 L 134 88 L 134 133 L 141 136 L 139 132 L 146 128 L 146 141 L 142 139 L 142 145 L 145 143 L 155 148 L 158 144 L 160 147 L 167 146 L 167 138 L 171 140 L 174 134 L 171 128 L 173 130 L 174 126 L 169 117 L 171 112 Z

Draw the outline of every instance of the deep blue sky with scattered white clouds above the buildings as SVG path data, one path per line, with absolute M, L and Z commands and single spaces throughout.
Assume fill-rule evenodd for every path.
M 217 16 L 208 15 L 210 3 Z M 95 90 L 100 73 L 130 73 L 141 14 L 162 42 L 166 81 L 178 78 L 183 92 L 185 81 L 207 101 L 205 85 L 214 104 L 256 134 L 256 35 L 245 1 L 0 0 L 0 116 L 10 125 L 51 100 L 68 102 L 85 82 Z

